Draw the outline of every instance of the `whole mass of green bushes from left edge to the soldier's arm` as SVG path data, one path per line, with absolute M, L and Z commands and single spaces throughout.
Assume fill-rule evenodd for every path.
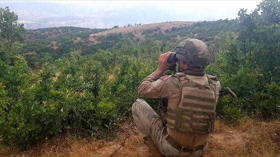
M 15 56 L 13 66 L 1 64 L 2 142 L 29 147 L 65 130 L 105 138 L 130 115 L 138 84 L 155 65 L 125 55 L 118 61 L 113 82 L 100 61 L 74 52 L 43 64 L 38 73 L 22 56 Z

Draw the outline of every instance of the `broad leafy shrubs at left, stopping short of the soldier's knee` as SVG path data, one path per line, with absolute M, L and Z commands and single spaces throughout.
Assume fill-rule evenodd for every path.
M 22 70 L 27 67 L 22 57 L 5 71 L 0 83 L 3 143 L 29 147 L 67 129 L 105 136 L 104 127 L 116 113 L 112 112 L 114 104 L 100 94 L 105 92 L 101 87 L 108 78 L 104 68 L 97 61 L 82 62 L 74 53 L 69 60 L 59 62 L 66 66 L 60 68 L 58 76 L 59 68 L 44 64 L 36 80 L 28 77 L 30 71 Z

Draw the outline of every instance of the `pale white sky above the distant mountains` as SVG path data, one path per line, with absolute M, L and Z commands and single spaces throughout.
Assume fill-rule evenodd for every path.
M 31 0 L 0 0 L 0 3 L 31 1 Z M 211 16 L 217 19 L 235 19 L 241 8 L 250 10 L 255 9 L 261 0 L 36 0 L 53 3 L 80 3 L 87 5 L 96 5 L 100 9 L 114 9 L 132 7 L 138 4 L 150 3 L 162 8 L 169 8 L 176 12 L 195 13 L 196 16 Z

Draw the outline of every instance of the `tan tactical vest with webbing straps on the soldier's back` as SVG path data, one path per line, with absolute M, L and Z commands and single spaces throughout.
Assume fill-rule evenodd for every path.
M 212 133 L 215 120 L 216 83 L 214 76 L 206 75 L 208 82 L 199 84 L 188 79 L 184 73 L 175 73 L 181 83 L 179 104 L 167 104 L 162 110 L 163 123 L 172 129 L 191 133 Z M 176 110 L 168 106 L 176 105 Z M 161 107 L 162 108 L 162 107 Z

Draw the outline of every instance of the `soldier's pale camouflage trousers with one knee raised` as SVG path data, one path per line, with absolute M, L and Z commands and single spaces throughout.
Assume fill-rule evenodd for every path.
M 150 136 L 158 151 L 165 157 L 201 157 L 205 153 L 207 144 L 203 150 L 195 151 L 192 154 L 173 148 L 166 141 L 168 135 L 164 136 L 166 128 L 162 124 L 161 117 L 144 100 L 137 99 L 131 110 L 140 136 Z

